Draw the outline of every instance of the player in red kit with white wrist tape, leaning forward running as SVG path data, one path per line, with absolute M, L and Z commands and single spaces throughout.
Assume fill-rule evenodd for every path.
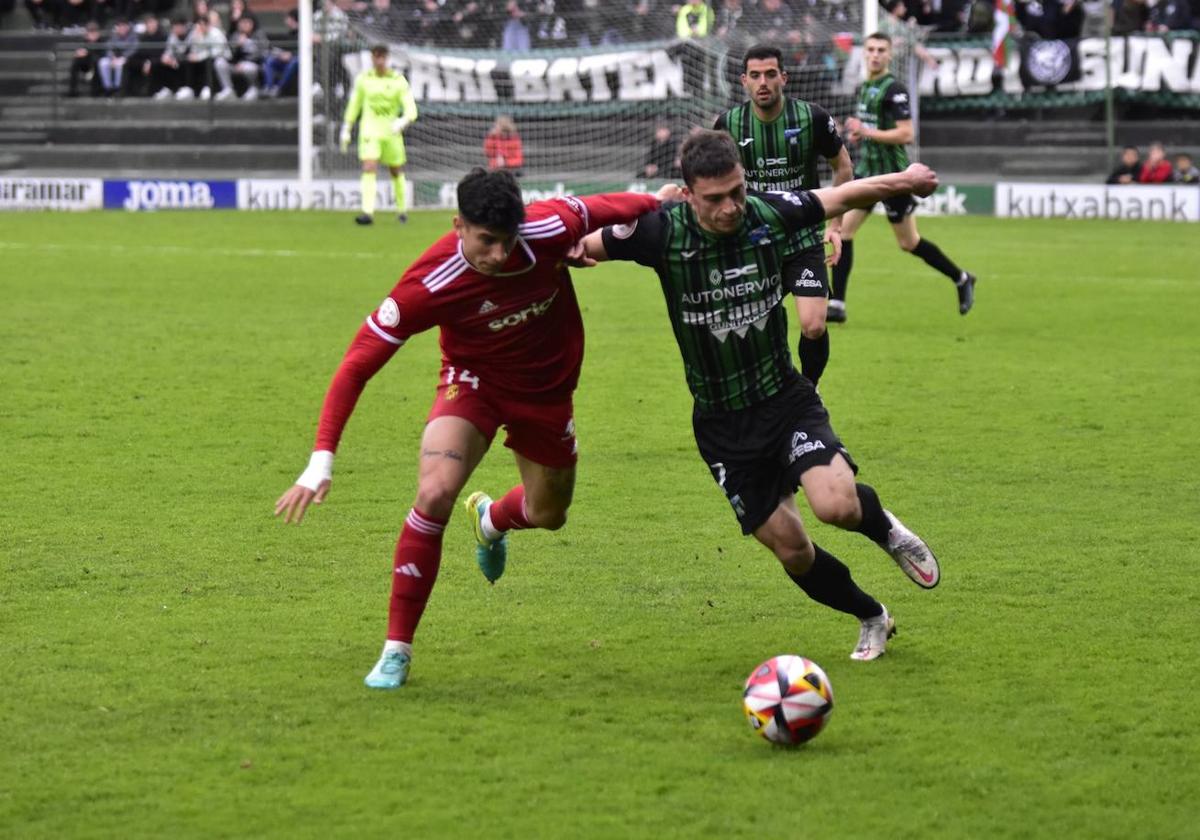
M 673 194 L 672 187 L 660 191 Z M 458 182 L 454 230 L 413 263 L 372 312 L 325 395 L 308 467 L 275 503 L 300 523 L 329 494 L 334 452 L 367 380 L 418 332 L 438 326 L 442 373 L 421 438 L 416 500 L 396 544 L 388 641 L 366 684 L 408 678 L 413 634 L 442 562 L 442 532 L 455 499 L 500 426 L 521 484 L 492 502 L 467 502 L 476 560 L 494 582 L 505 533 L 554 530 L 575 488 L 571 396 L 583 360 L 583 322 L 566 260 L 586 234 L 659 206 L 654 196 L 563 197 L 526 206 L 508 172 L 472 170 Z

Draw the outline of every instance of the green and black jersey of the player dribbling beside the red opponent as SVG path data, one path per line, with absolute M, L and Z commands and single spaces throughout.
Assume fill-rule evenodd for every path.
M 796 376 L 787 340 L 784 263 L 798 230 L 824 218 L 810 192 L 750 193 L 737 233 L 700 227 L 689 204 L 604 229 L 612 259 L 654 269 L 702 412 L 749 408 Z

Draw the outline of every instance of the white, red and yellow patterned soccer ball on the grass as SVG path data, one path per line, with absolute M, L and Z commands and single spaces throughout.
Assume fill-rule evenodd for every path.
M 812 660 L 774 656 L 746 678 L 742 709 L 750 728 L 773 744 L 803 744 L 829 720 L 833 686 Z

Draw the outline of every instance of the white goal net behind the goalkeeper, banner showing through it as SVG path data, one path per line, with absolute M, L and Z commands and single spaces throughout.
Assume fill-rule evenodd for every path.
M 572 4 L 580 5 L 582 11 L 568 14 L 553 0 L 497 2 L 492 14 L 431 20 L 430 13 L 392 13 L 388 0 L 372 0 L 337 37 L 317 38 L 314 176 L 352 178 L 359 169 L 353 146 L 338 151 L 337 133 L 354 76 L 370 68 L 376 43 L 390 47 L 391 64 L 418 103 L 419 118 L 404 133 L 415 206 L 452 205 L 454 185 L 472 167 L 487 166 L 485 140 L 500 128 L 509 145 L 493 143 L 492 151 L 511 151 L 515 130 L 522 156 L 506 163 L 520 170 L 530 197 L 654 188 L 672 175 L 660 167 L 647 176 L 655 133 L 670 131 L 677 149 L 691 128 L 712 127 L 718 114 L 744 101 L 742 55 L 756 43 L 784 52 L 787 95 L 839 119 L 852 112 L 863 76 L 858 4 L 817 0 L 800 12 L 793 10 L 802 4 L 761 0 L 739 12 L 725 0 L 714 4 L 718 12 L 702 36 L 700 19 L 685 16 L 682 25 L 692 30 L 686 37 L 661 5 L 653 18 L 636 14 L 636 4 Z M 314 31 L 322 30 L 318 16 Z M 522 49 L 504 49 L 514 43 Z M 894 72 L 905 78 L 905 37 L 895 52 Z

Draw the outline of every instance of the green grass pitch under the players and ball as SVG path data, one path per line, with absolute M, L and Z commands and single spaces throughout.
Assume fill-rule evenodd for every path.
M 492 588 L 460 512 L 412 682 L 372 692 L 433 335 L 368 386 L 329 502 L 271 508 L 449 221 L 0 218 L 0 836 L 1195 836 L 1194 226 L 922 220 L 980 277 L 966 318 L 859 234 L 822 394 L 943 568 L 919 590 L 803 511 L 896 616 L 874 664 L 739 536 L 653 276 L 577 272 L 570 523 Z M 497 446 L 470 487 L 515 480 Z M 779 653 L 836 696 L 799 750 L 742 718 Z

